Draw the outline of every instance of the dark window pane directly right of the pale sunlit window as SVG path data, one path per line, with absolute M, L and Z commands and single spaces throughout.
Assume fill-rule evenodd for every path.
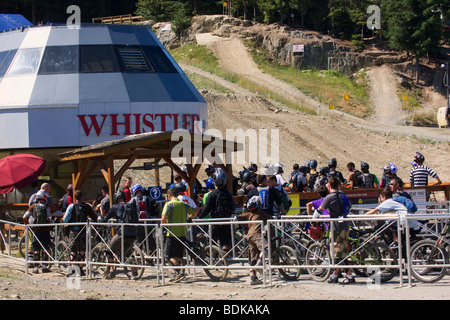
M 78 46 L 45 48 L 39 74 L 78 72 Z

